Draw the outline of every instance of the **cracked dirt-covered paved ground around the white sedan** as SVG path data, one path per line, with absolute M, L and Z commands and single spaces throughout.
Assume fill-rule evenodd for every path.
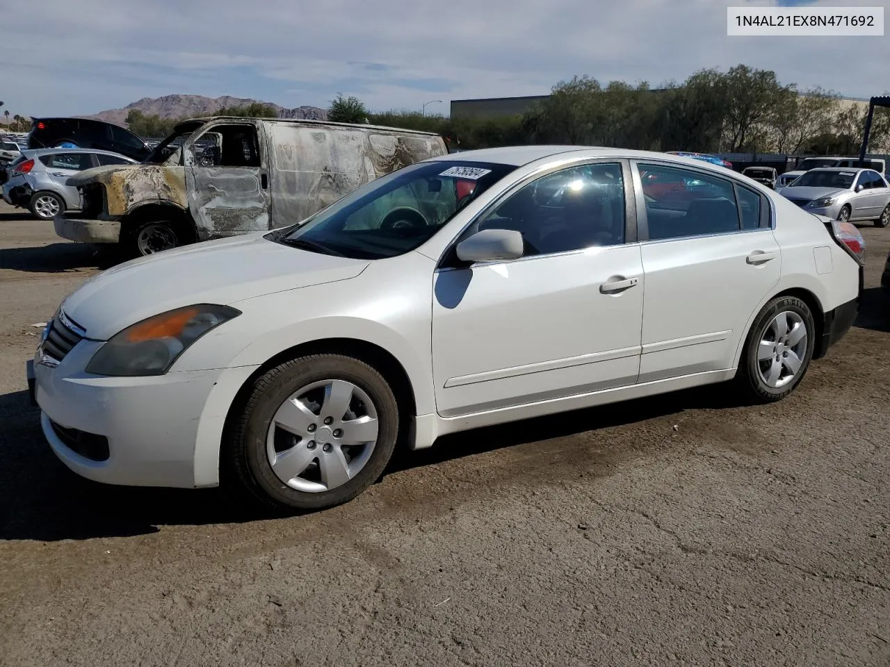
M 0 209 L 0 664 L 890 664 L 890 229 L 788 400 L 710 388 L 474 431 L 345 506 L 100 486 L 25 360 L 96 271 Z

